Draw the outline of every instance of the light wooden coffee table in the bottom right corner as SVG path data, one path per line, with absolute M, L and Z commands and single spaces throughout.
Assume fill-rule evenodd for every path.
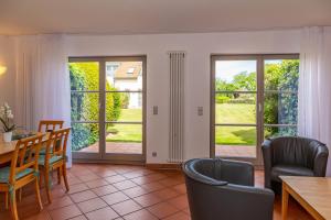
M 291 195 L 314 219 L 331 219 L 331 178 L 280 176 L 282 180 L 281 219 L 287 219 Z

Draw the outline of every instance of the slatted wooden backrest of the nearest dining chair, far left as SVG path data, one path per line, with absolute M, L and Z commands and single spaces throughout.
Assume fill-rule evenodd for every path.
M 42 145 L 43 136 L 44 134 L 36 134 L 18 141 L 11 158 L 9 175 L 9 183 L 11 185 L 15 183 L 17 174 L 24 172 L 26 168 L 31 168 L 38 173 L 39 151 Z

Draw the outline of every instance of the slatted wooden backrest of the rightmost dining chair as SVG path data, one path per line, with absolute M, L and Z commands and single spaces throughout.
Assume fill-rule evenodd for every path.
M 66 128 L 51 132 L 46 144 L 46 164 L 52 156 L 63 156 L 63 158 L 66 157 L 66 145 L 70 131 L 71 128 Z

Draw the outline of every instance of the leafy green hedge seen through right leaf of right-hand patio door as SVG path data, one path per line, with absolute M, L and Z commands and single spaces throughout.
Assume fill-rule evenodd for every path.
M 266 124 L 297 124 L 299 61 L 267 64 L 265 70 Z M 266 128 L 268 135 L 295 135 L 296 128 Z

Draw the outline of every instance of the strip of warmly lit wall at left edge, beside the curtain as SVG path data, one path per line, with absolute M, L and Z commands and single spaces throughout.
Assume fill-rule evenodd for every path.
M 0 105 L 8 102 L 14 110 L 15 69 L 12 37 L 0 35 L 0 66 L 7 67 L 7 72 L 0 75 Z

